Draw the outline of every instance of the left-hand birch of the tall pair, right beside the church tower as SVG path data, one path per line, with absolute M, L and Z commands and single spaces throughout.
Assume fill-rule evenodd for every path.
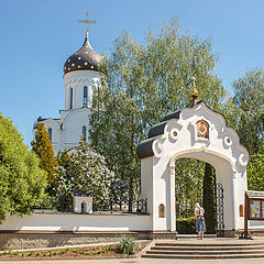
M 109 168 L 129 185 L 129 198 L 132 200 L 139 193 L 136 186 L 140 186 L 136 138 L 140 135 L 143 139 L 143 135 L 141 102 L 135 100 L 140 72 L 130 68 L 140 67 L 141 46 L 128 36 L 118 38 L 116 48 L 111 58 L 102 65 L 108 78 L 94 97 L 95 108 L 99 111 L 91 116 L 89 132 L 92 146 L 107 157 Z

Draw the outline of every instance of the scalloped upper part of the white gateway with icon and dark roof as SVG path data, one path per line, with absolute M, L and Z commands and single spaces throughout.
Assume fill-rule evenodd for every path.
M 240 144 L 238 133 L 227 127 L 222 114 L 212 111 L 201 100 L 193 107 L 167 114 L 163 122 L 153 125 L 147 139 L 136 148 L 140 160 L 174 155 L 187 150 L 217 152 L 232 163 L 246 166 L 248 151 Z

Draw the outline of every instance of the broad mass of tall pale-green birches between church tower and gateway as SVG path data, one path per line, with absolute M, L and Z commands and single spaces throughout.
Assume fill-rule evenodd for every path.
M 189 103 L 196 76 L 200 98 L 220 110 L 226 90 L 215 73 L 217 56 L 211 40 L 180 32 L 174 19 L 145 43 L 123 33 L 101 70 L 107 76 L 95 95 L 90 139 L 108 166 L 129 184 L 132 199 L 140 186 L 136 146 L 163 117 Z M 202 89 L 201 89 L 202 88 Z M 103 103 L 102 103 L 103 102 Z

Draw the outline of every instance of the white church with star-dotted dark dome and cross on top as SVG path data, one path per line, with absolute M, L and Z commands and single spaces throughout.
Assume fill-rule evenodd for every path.
M 33 136 L 37 124 L 43 122 L 53 143 L 55 155 L 58 151 L 70 150 L 79 145 L 80 140 L 89 141 L 89 117 L 92 111 L 92 94 L 100 88 L 102 74 L 99 64 L 102 56 L 90 45 L 88 24 L 96 21 L 81 20 L 86 23 L 86 38 L 82 46 L 70 55 L 64 64 L 65 108 L 59 110 L 59 119 L 38 117 L 33 127 Z

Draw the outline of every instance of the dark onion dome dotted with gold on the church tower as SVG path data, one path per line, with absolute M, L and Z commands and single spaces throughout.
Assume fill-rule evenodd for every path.
M 98 66 L 101 59 L 102 56 L 92 50 L 87 34 L 82 47 L 78 52 L 69 56 L 64 64 L 64 74 L 84 69 L 98 72 Z

